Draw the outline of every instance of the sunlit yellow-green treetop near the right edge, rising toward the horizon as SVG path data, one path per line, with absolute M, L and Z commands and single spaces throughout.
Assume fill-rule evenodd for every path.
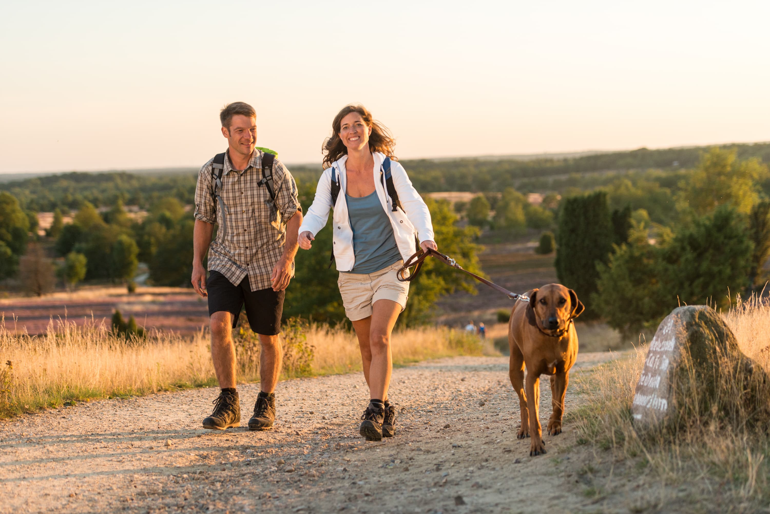
M 702 156 L 687 180 L 679 183 L 678 202 L 699 216 L 725 204 L 748 214 L 758 201 L 759 182 L 767 176 L 768 167 L 758 159 L 738 160 L 735 149 L 714 147 Z

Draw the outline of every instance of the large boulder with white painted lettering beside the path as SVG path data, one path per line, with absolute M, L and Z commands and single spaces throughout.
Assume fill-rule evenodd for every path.
M 731 424 L 768 417 L 768 376 L 738 348 L 721 316 L 705 305 L 678 307 L 658 326 L 631 413 L 640 428 Z

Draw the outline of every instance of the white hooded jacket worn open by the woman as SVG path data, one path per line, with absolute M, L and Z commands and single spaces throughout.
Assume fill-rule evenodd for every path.
M 373 153 L 374 157 L 374 189 L 377 191 L 377 197 L 383 210 L 388 215 L 390 226 L 393 227 L 393 236 L 396 239 L 398 251 L 403 260 L 407 260 L 417 248 L 414 245 L 414 235 L 420 243 L 423 241 L 434 240 L 433 224 L 430 221 L 430 212 L 423 199 L 412 186 L 407 172 L 396 161 L 391 160 L 390 174 L 393 176 L 393 186 L 398 193 L 398 200 L 403 210 L 397 209 L 393 212 L 391 207 L 392 200 L 383 187 L 383 180 L 380 179 L 382 173 L 382 164 L 385 155 L 380 152 Z M 356 256 L 353 253 L 353 229 L 350 227 L 350 219 L 347 212 L 347 201 L 345 191 L 347 190 L 347 172 L 345 162 L 347 156 L 342 156 L 336 160 L 331 167 L 323 170 L 316 187 L 316 197 L 313 199 L 313 205 L 307 210 L 303 218 L 300 233 L 310 231 L 313 237 L 319 232 L 329 219 L 329 210 L 334 207 L 333 213 L 333 249 L 336 260 L 336 269 L 338 271 L 350 271 L 356 264 Z M 331 195 L 331 176 L 332 170 L 336 168 L 340 173 L 340 194 L 337 196 L 336 205 L 332 206 Z M 406 212 L 404 212 L 406 211 Z

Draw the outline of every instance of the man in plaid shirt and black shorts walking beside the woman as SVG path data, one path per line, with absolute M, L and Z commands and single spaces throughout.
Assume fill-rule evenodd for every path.
M 209 300 L 211 357 L 222 392 L 204 428 L 224 430 L 240 425 L 236 391 L 236 354 L 231 335 L 241 308 L 259 335 L 261 391 L 249 419 L 249 429 L 273 426 L 273 391 L 283 354 L 278 338 L 283 297 L 294 275 L 297 233 L 302 209 L 289 170 L 273 160 L 272 180 L 263 169 L 273 156 L 256 149 L 256 113 L 234 102 L 219 113 L 228 148 L 201 168 L 195 193 L 192 287 Z M 220 163 L 221 162 L 221 163 Z M 271 185 L 272 183 L 272 185 Z M 218 226 L 216 239 L 211 237 Z M 209 247 L 210 244 L 210 247 Z M 209 278 L 203 257 L 208 250 Z

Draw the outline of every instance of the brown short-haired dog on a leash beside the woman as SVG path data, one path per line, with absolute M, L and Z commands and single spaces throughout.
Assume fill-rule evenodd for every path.
M 532 438 L 530 455 L 545 453 L 543 432 L 537 412 L 540 407 L 540 375 L 551 375 L 554 408 L 548 420 L 548 435 L 561 433 L 564 393 L 570 368 L 577 358 L 574 318 L 584 311 L 577 294 L 561 284 L 548 284 L 527 291 L 530 301 L 517 301 L 508 323 L 511 365 L 508 375 L 519 395 L 521 429 L 517 438 Z M 527 381 L 524 385 L 524 365 Z

